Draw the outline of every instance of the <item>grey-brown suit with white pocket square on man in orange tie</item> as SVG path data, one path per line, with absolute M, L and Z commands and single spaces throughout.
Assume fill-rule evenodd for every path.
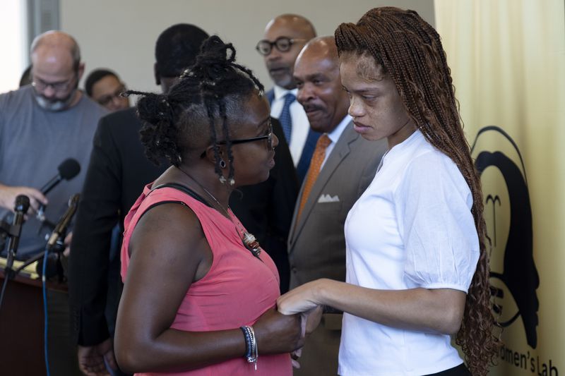
M 345 281 L 345 219 L 374 178 L 385 151 L 386 140 L 364 140 L 349 123 L 297 220 L 302 185 L 288 240 L 290 289 L 319 278 Z M 301 368 L 295 375 L 336 375 L 340 328 L 341 315 L 323 315 L 302 348 Z

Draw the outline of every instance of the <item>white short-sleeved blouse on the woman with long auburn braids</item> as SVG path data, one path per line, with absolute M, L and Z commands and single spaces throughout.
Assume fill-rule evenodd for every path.
M 420 131 L 393 147 L 345 222 L 347 283 L 468 291 L 479 259 L 472 195 Z M 345 314 L 340 375 L 425 375 L 456 367 L 450 337 Z

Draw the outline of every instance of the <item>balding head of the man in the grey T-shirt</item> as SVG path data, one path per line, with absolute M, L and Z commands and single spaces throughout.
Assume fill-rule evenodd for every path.
M 66 32 L 44 32 L 33 40 L 30 55 L 40 106 L 60 111 L 76 104 L 81 97 L 76 88 L 84 71 L 76 40 Z

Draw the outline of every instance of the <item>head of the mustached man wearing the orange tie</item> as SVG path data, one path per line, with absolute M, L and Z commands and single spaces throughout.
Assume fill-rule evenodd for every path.
M 333 37 L 314 38 L 304 46 L 296 59 L 294 80 L 298 102 L 306 111 L 310 127 L 321 133 L 333 131 L 349 108 Z

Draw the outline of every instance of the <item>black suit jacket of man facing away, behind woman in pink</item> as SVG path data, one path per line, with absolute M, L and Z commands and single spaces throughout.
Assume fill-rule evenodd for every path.
M 136 110 L 126 109 L 103 117 L 95 134 L 69 257 L 71 320 L 78 332 L 78 344 L 83 346 L 93 346 L 109 338 L 105 317 L 109 295 L 116 297 L 108 307 L 109 315 L 115 320 L 117 313 L 121 279 L 117 277 L 112 286 L 107 283 L 109 269 L 119 271 L 119 255 L 112 260 L 112 265 L 109 260 L 112 229 L 119 224 L 123 232 L 124 217 L 143 187 L 168 166 L 155 166 L 145 157 L 139 140 L 140 129 Z M 276 121 L 273 131 L 278 137 L 283 134 Z M 232 205 L 244 226 L 263 240 L 261 245 L 275 262 L 283 255 L 278 267 L 287 276 L 283 239 L 287 238 L 298 185 L 285 142 L 279 142 L 275 164 L 268 181 L 240 188 L 242 198 Z M 237 197 L 237 193 L 234 195 Z M 274 253 L 269 252 L 271 244 Z

